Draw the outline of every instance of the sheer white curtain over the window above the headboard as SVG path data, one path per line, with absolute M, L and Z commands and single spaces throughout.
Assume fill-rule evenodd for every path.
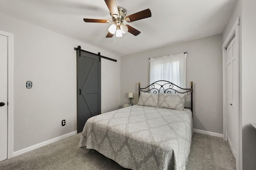
M 181 88 L 186 88 L 187 53 L 168 55 L 150 59 L 150 84 L 166 80 Z

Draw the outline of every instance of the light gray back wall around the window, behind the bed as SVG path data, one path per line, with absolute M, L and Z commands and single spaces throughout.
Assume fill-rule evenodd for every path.
M 187 87 L 194 82 L 194 129 L 223 134 L 221 34 L 122 56 L 121 104 L 128 103 L 128 92 L 137 104 L 138 82 L 149 84 L 148 58 L 182 52 L 188 52 Z

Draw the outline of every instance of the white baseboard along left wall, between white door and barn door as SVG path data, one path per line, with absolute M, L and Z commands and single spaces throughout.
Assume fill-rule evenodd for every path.
M 77 133 L 77 131 L 70 132 L 70 133 L 67 133 L 67 134 L 65 134 L 65 135 L 56 137 L 56 138 L 54 138 L 54 139 L 50 139 L 50 140 L 48 140 L 48 141 L 44 141 L 44 142 L 42 142 L 42 143 L 38 143 L 38 144 L 33 145 L 33 146 L 31 146 L 31 147 L 27 147 L 27 148 L 18 150 L 18 151 L 16 151 L 16 152 L 13 152 L 12 156 L 18 156 L 18 155 L 23 154 L 23 153 L 25 153 L 25 152 L 28 152 L 28 151 L 30 151 L 30 150 L 34 150 L 34 149 L 43 147 L 43 146 L 45 146 L 45 145 L 48 145 L 48 144 L 50 144 L 50 143 L 59 141 L 60 139 L 64 139 L 64 138 L 66 138 L 66 137 L 70 137 L 70 136 L 72 136 L 72 135 L 75 135 L 76 133 Z

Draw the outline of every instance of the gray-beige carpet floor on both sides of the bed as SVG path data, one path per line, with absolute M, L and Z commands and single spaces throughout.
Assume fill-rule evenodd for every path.
M 102 154 L 78 148 L 80 134 L 0 162 L 0 170 L 127 170 Z M 228 143 L 193 133 L 186 170 L 235 170 Z

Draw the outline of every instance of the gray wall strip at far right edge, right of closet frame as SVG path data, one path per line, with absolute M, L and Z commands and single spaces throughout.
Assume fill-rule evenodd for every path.
M 256 123 L 254 106 L 256 84 L 256 1 L 243 0 L 242 3 L 242 153 L 243 170 L 256 167 Z

